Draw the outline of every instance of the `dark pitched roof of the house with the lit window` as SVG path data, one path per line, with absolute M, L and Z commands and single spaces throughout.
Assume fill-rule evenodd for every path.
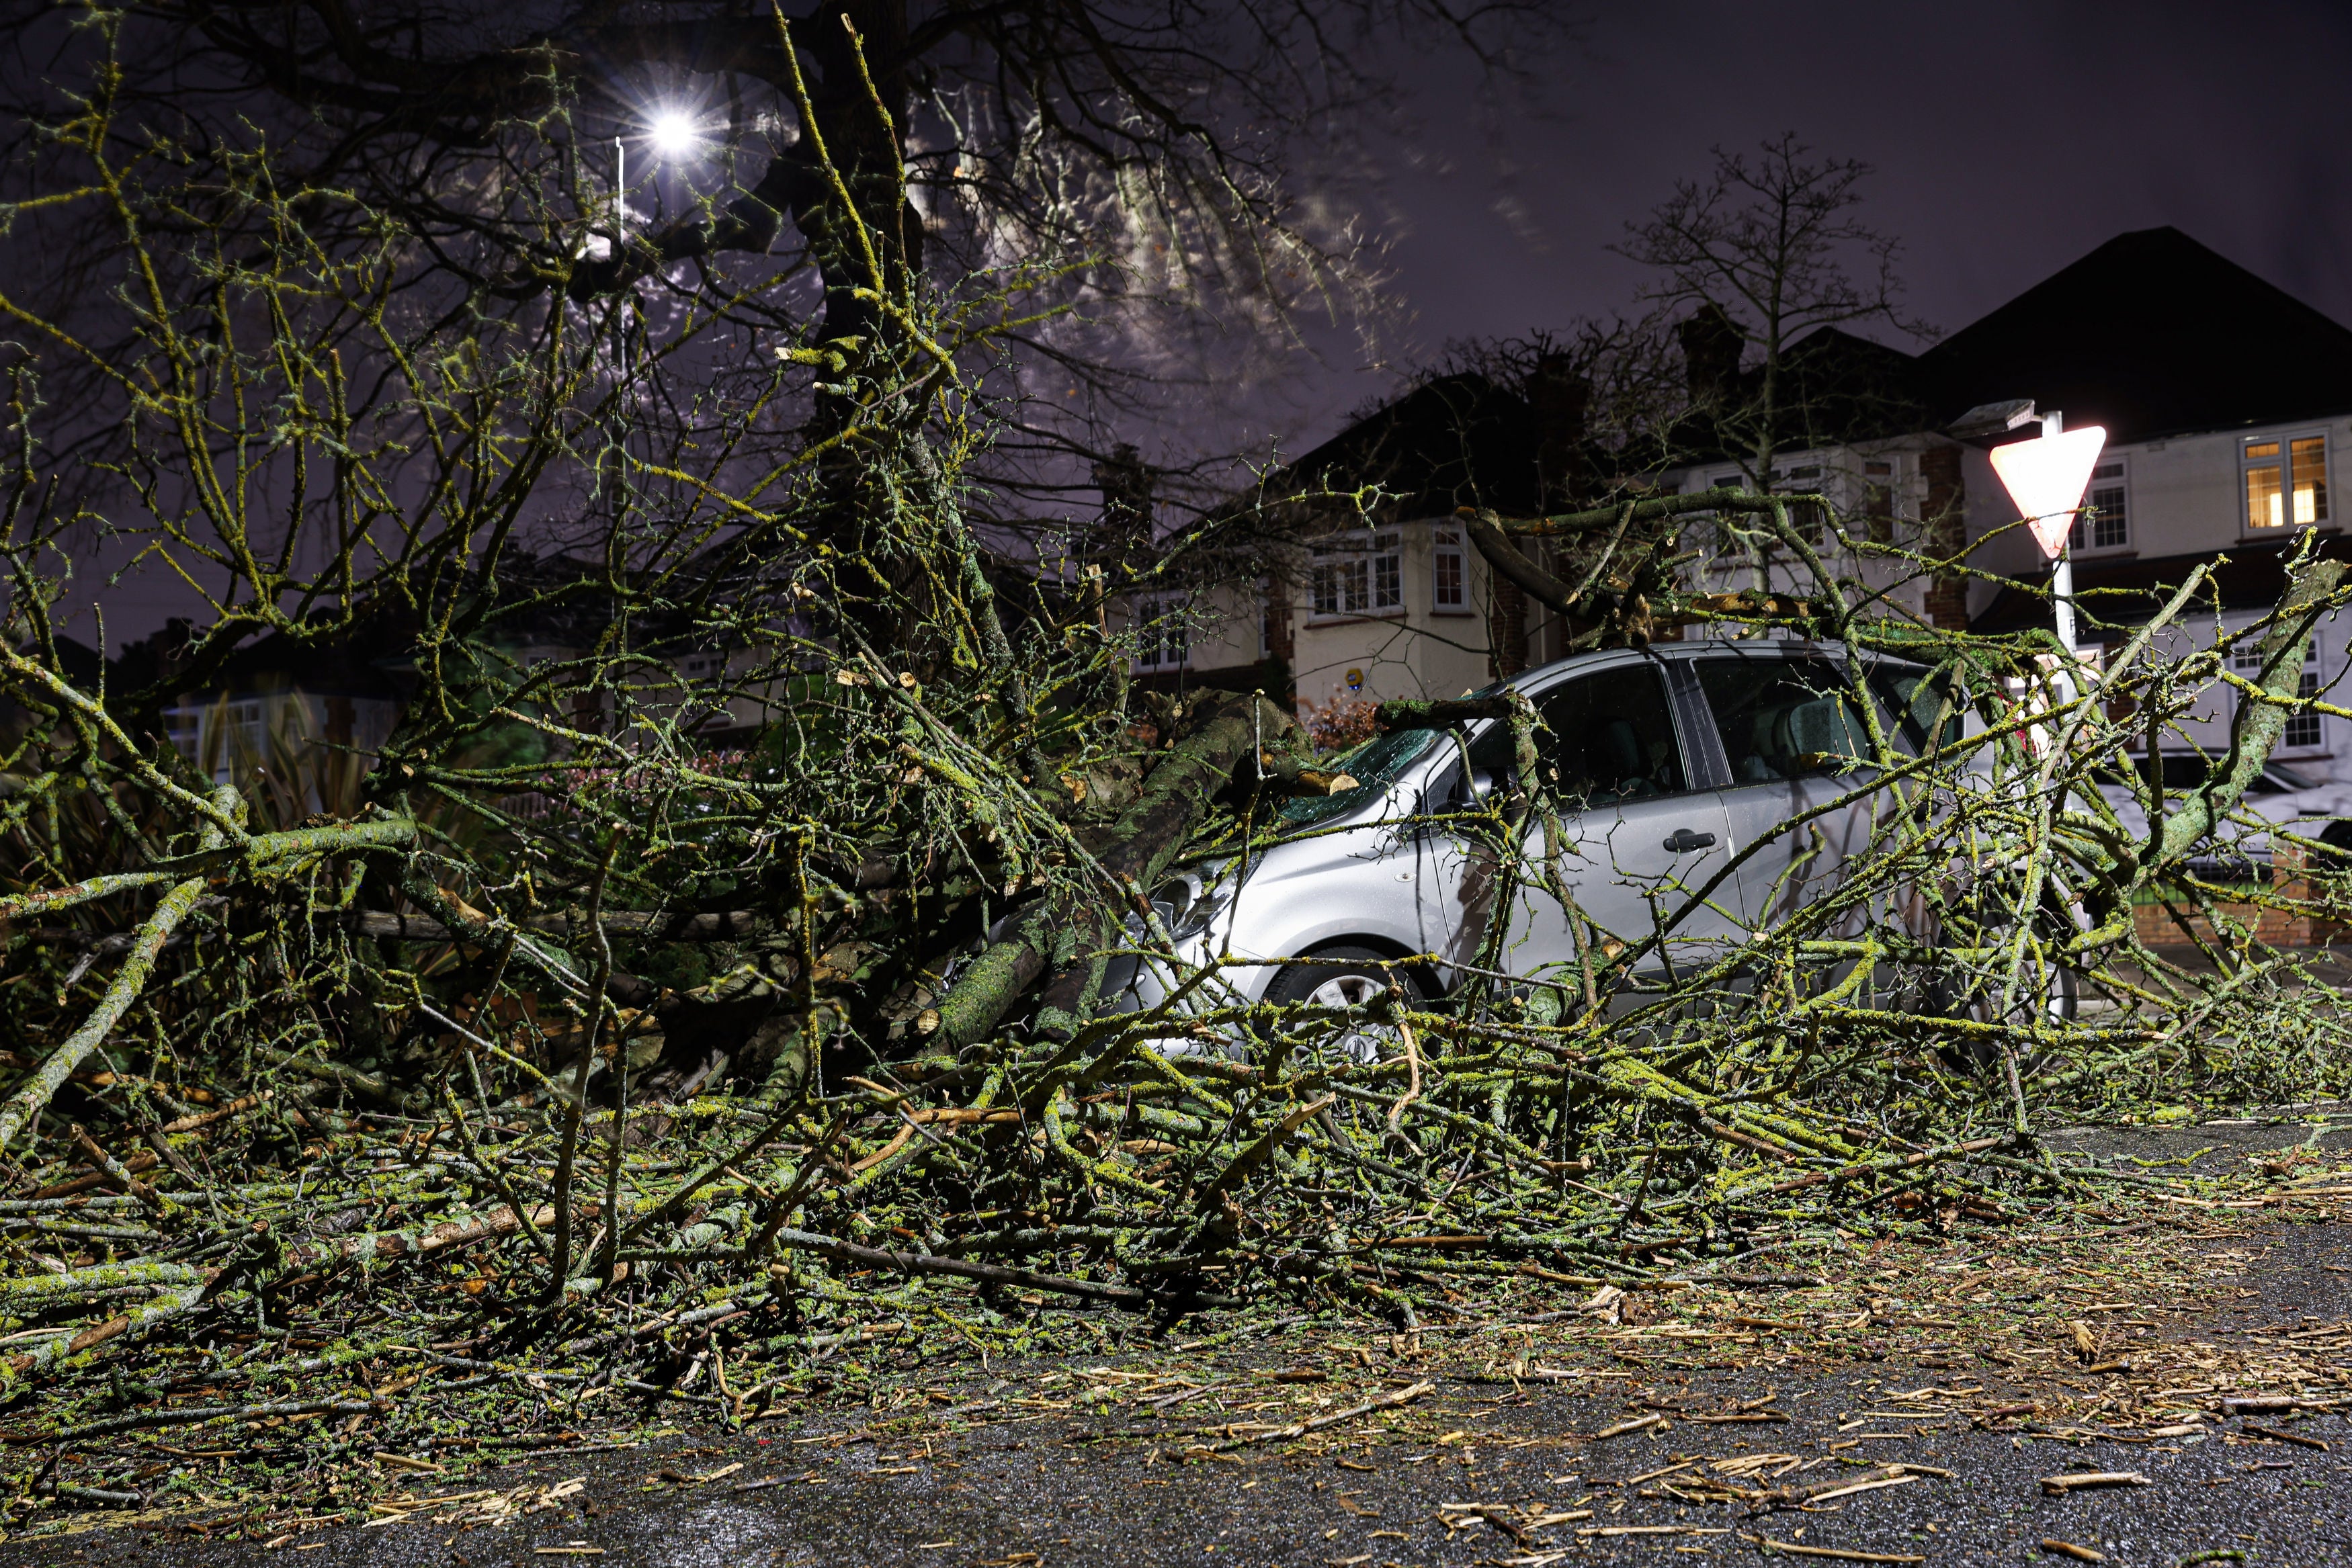
M 2352 329 L 2178 228 L 2117 235 L 1919 355 L 1940 421 L 2004 397 L 2112 440 L 2352 411 Z

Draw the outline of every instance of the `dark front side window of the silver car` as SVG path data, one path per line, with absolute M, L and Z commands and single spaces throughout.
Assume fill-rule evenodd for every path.
M 1630 665 L 1562 682 L 1536 693 L 1534 705 L 1536 766 L 1564 806 L 1609 806 L 1691 788 L 1665 682 L 1653 668 Z M 1470 766 L 1505 778 L 1510 750 L 1510 724 L 1489 724 L 1470 743 Z

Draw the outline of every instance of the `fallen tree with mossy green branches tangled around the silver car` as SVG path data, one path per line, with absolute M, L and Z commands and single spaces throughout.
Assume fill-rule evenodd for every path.
M 136 491 L 139 527 L 233 581 L 183 646 L 358 642 L 414 686 L 346 769 L 343 741 L 308 764 L 172 745 L 155 719 L 186 668 L 73 677 L 47 562 L 85 515 L 16 369 L 0 1328 L 35 1425 L 151 1401 L 122 1378 L 179 1352 L 223 1385 L 315 1392 L 219 1408 L 365 1427 L 393 1420 L 365 1380 L 395 1354 L 663 1396 L 708 1349 L 774 1396 L 835 1342 L 818 1328 L 875 1312 L 983 1349 L 1047 1298 L 1409 1326 L 1475 1288 L 1722 1274 L 2129 1192 L 2034 1128 L 2345 1081 L 2343 1020 L 2246 914 L 2333 919 L 2345 891 L 2237 811 L 2288 715 L 2338 712 L 2298 686 L 2347 602 L 2338 562 L 2296 557 L 2237 635 L 2253 679 L 2180 632 L 2190 578 L 2093 684 L 2049 639 L 1884 614 L 1785 496 L 1472 517 L 1585 646 L 1797 628 L 1912 661 L 1910 710 L 1839 665 L 1823 698 L 1858 738 L 1811 764 L 1835 788 L 1743 849 L 1785 853 L 1783 886 L 1743 943 L 1658 980 L 1731 870 L 1651 889 L 1646 931 L 1602 929 L 1545 851 L 1583 802 L 1541 766 L 1529 701 L 1385 705 L 1388 738 L 1510 743 L 1484 797 L 1390 823 L 1477 858 L 1479 957 L 1399 957 L 1399 980 L 1442 985 L 1348 1006 L 1270 1004 L 1155 900 L 1319 832 L 1284 802 L 1385 799 L 1350 773 L 1371 752 L 1312 755 L 1275 693 L 1145 701 L 1108 590 L 990 559 L 957 463 L 1018 284 L 938 299 L 858 261 L 877 327 L 816 346 L 776 343 L 750 296 L 696 296 L 661 331 L 635 296 L 564 289 L 409 317 L 383 303 L 423 242 L 397 212 L 353 252 L 198 268 L 136 221 L 195 195 L 111 162 L 103 106 L 59 136 L 151 261 L 125 306 L 143 369 L 120 386 L 122 461 L 174 482 Z M 266 160 L 228 172 L 306 233 Z M 546 254 L 586 254 L 593 214 L 548 197 L 536 221 Z M 760 353 L 710 376 L 694 355 L 724 334 Z M 795 444 L 786 397 L 854 414 Z M 306 505 L 261 508 L 273 487 Z M 574 527 L 581 494 L 616 501 Z M 1686 581 L 1679 520 L 1726 510 L 1783 541 L 1804 592 Z M 263 527 L 282 512 L 308 555 Z M 1571 583 L 1512 543 L 1538 534 L 1599 552 Z M 1867 531 L 1851 548 L 1905 559 Z M 2230 748 L 2166 802 L 2131 748 L 2225 675 Z M 2110 788 L 2138 792 L 2143 830 Z M 1809 882 L 1799 849 L 1832 823 L 1839 875 Z M 2218 882 L 2213 853 L 2256 827 L 2279 875 Z M 1522 893 L 1562 905 L 1573 973 L 1512 966 Z M 2143 938 L 2152 907 L 2197 964 Z M 1122 1011 L 1112 976 L 1141 964 L 1174 985 Z M 2072 987 L 2100 1006 L 2046 1006 Z M 628 1314 L 652 1328 L 609 1326 Z M 282 1349 L 233 1361 L 247 1345 Z M 68 1429 L 118 1420 L 141 1413 Z M 306 1432 L 313 1458 L 358 1441 Z

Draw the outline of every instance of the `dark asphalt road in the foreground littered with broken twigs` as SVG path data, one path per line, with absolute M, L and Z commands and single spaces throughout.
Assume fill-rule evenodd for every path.
M 2138 1161 L 2206 1150 L 2199 1161 L 2216 1166 L 2343 1138 L 2345 1128 L 2199 1126 L 2084 1131 L 2067 1143 Z M 2209 1220 L 2192 1215 L 2185 1225 Z M 494 1495 L 487 1505 L 477 1495 L 367 1528 L 294 1523 L 275 1544 L 214 1544 L 167 1528 L 92 1530 L 0 1544 L 0 1566 L 485 1568 L 579 1559 L 680 1568 L 1214 1568 L 1228 1561 L 1541 1568 L 1552 1561 L 1745 1561 L 1769 1554 L 1764 1542 L 1811 1547 L 1788 1561 L 1820 1563 L 2352 1563 L 2352 1427 L 2345 1415 L 2241 1415 L 2220 1403 L 2230 1392 L 2300 1392 L 2314 1403 L 2352 1396 L 2345 1295 L 2352 1204 L 2343 1220 L 2251 1220 L 2234 1232 L 2150 1229 L 2150 1222 L 2124 1229 L 2098 1246 L 2164 1248 L 2166 1258 L 2185 1260 L 2173 1272 L 2145 1274 L 2138 1288 L 2143 1300 L 2157 1300 L 2161 1281 L 2178 1274 L 2171 1312 L 2084 1300 L 2100 1295 L 2098 1284 L 2077 1286 L 2084 1295 L 2051 1298 L 2049 1312 L 2056 1319 L 2084 1314 L 2077 1321 L 2098 1324 L 2103 1345 L 2117 1335 L 2124 1349 L 2114 1354 L 2129 1361 L 2114 1366 L 2124 1371 L 2131 1363 L 2166 1368 L 2140 1378 L 2131 1399 L 2103 1392 L 2119 1382 L 2103 1382 L 2098 1366 L 2023 1359 L 2053 1354 L 2027 1347 L 2027 1331 L 2016 1331 L 2011 1349 L 2018 1354 L 2004 1354 L 1999 1340 L 1938 1333 L 1938 1324 L 1957 1331 L 1959 1321 L 1917 1305 L 1926 1298 L 1915 1276 L 1886 1265 L 1886 1288 L 1917 1302 L 1870 1302 L 1844 1349 L 1839 1335 L 1823 1333 L 1818 1316 L 1802 1347 L 1797 1340 L 1776 1347 L 1764 1326 L 1788 1328 L 1783 1319 L 1799 1314 L 1785 1293 L 1731 1307 L 1733 1316 L 1719 1309 L 1715 1328 L 1686 1333 L 1686 1349 L 1677 1349 L 1682 1340 L 1637 1340 L 1623 1331 L 1609 1335 L 1616 1349 L 1569 1366 L 1566 1354 L 1522 1340 L 1519 1380 L 1508 1363 L 1496 1366 L 1496 1356 L 1515 1354 L 1508 1335 L 1449 1345 L 1432 1331 L 1428 1349 L 1392 1356 L 1402 1345 L 1374 1331 L 1329 1333 L 1310 1349 L 1322 1366 L 1345 1368 L 1362 1385 L 1343 1399 L 1374 1387 L 1397 1394 L 1414 1382 L 1432 1382 L 1432 1392 L 1399 1410 L 1334 1422 L 1305 1441 L 1244 1443 L 1223 1458 L 1202 1453 L 1230 1446 L 1200 1415 L 1209 1394 L 1223 1399 L 1230 1389 L 1249 1389 L 1268 1406 L 1282 1403 L 1284 1415 L 1338 1408 L 1329 1396 L 1310 1403 L 1315 1382 L 1291 1387 L 1277 1375 L 1301 1356 L 1298 1347 L 1221 1363 L 1216 1375 L 1228 1382 L 1188 1401 L 1190 1410 L 1152 1410 L 1141 1401 L 1089 1408 L 1070 1401 L 1080 1385 L 1068 1373 L 1040 1366 L 941 1368 L 929 1403 L 894 1420 L 828 1410 L 800 1422 L 760 1422 L 750 1434 L 689 1432 L 628 1453 L 541 1458 L 463 1481 L 416 1474 L 414 1495 L 421 1497 L 485 1488 Z M 1938 1262 L 1931 1253 L 1903 1267 L 1966 1281 L 1973 1279 L 1966 1269 L 1997 1265 L 1999 1244 L 1955 1244 L 1950 1260 Z M 2051 1286 L 2034 1288 L 2046 1293 Z M 1576 1305 L 1578 1295 L 1564 1291 L 1564 1305 Z M 1903 1331 L 1882 1328 L 1882 1316 Z M 1131 1363 L 1145 1361 L 1152 1359 Z M 1543 1382 L 1543 1368 L 1555 1361 L 1566 1373 Z M 1080 1363 L 1115 1368 L 1120 1356 L 1068 1366 Z M 1169 1361 L 1160 1356 L 1152 1366 Z M 2197 1366 L 2223 1371 L 2206 1373 L 2206 1385 L 2178 1385 L 2185 1392 L 2152 1387 L 2197 1378 Z M 1338 1373 L 1329 1378 L 1329 1387 L 1341 1389 Z M 1938 1399 L 1955 1413 L 1938 1418 Z M 2058 1410 L 2063 1399 L 2074 1401 L 2063 1415 L 2011 1408 L 2042 1401 L 2042 1410 Z M 1889 1406 L 1896 1410 L 1870 1415 Z M 2201 1410 L 2180 1420 L 2164 1415 L 2166 1406 Z M 1644 1415 L 1663 1420 L 1595 1436 Z M 1708 1415 L 1715 1420 L 1693 1420 Z M 1889 1479 L 1884 1465 L 1933 1467 L 1950 1476 L 1915 1472 L 1900 1483 L 1818 1500 L 1809 1509 L 1757 1509 L 1708 1500 L 1691 1486 L 1722 1476 L 1719 1465 L 1731 1465 L 1729 1481 L 1743 1488 Z M 1773 1479 L 1773 1472 L 1788 1474 Z M 2147 1483 L 2046 1493 L 2044 1476 L 2063 1472 L 2133 1472 Z M 567 1488 L 576 1476 L 583 1483 Z M 539 1512 L 517 1512 L 534 1505 Z M 2046 1540 L 2098 1556 L 2067 1556 L 2044 1547 Z

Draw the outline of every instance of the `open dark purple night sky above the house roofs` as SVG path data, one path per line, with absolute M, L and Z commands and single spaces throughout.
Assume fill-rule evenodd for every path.
M 1414 310 L 1390 364 L 1623 308 L 1642 280 L 1604 249 L 1623 223 L 1710 148 L 1783 129 L 1877 167 L 1863 216 L 1903 240 L 1910 306 L 1945 331 L 2157 223 L 2352 322 L 2352 5 L 1585 9 L 1538 115 L 1482 125 L 1468 66 L 1423 73 L 1409 113 L 1437 150 L 1388 183 Z M 1296 435 L 1385 383 L 1334 357 Z

